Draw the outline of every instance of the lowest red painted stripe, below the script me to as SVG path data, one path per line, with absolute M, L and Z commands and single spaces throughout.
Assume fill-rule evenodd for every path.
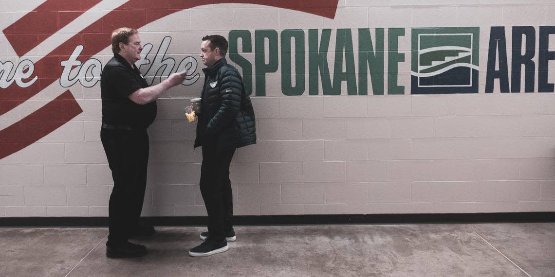
M 83 112 L 69 90 L 24 119 L 0 130 L 0 159 L 42 139 Z

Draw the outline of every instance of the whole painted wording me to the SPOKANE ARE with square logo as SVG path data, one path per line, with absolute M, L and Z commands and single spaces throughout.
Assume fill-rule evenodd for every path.
M 534 91 L 534 76 L 538 72 L 540 92 L 553 92 L 553 84 L 548 83 L 548 61 L 555 59 L 555 52 L 549 51 L 549 35 L 555 34 L 555 27 L 540 27 L 539 61 L 536 67 L 532 60 L 536 55 L 536 33 L 534 27 L 512 27 L 512 66 L 509 86 L 509 70 L 507 64 L 507 43 L 504 27 L 492 27 L 488 52 L 486 73 L 486 93 L 493 92 L 495 81 L 499 81 L 502 93 L 521 91 L 521 74 L 524 66 L 524 91 Z M 266 95 L 266 75 L 276 73 L 281 63 L 281 91 L 284 95 L 304 95 L 306 76 L 308 76 L 308 95 L 340 95 L 342 83 L 346 83 L 347 95 L 383 95 L 385 80 L 385 60 L 388 65 L 387 94 L 405 94 L 402 86 L 397 84 L 398 63 L 405 61 L 405 54 L 398 49 L 398 41 L 405 34 L 403 28 L 388 30 L 388 49 L 384 49 L 384 28 L 376 28 L 374 34 L 370 29 L 286 29 L 281 34 L 276 30 L 255 30 L 253 38 L 249 30 L 231 30 L 230 59 L 244 73 L 244 80 L 249 94 L 255 91 L 257 96 Z M 330 41 L 335 33 L 335 50 L 333 68 L 330 70 Z M 358 42 L 353 45 L 353 33 L 358 34 Z M 522 38 L 524 37 L 524 44 Z M 243 44 L 238 49 L 239 40 Z M 291 43 L 293 42 L 293 43 Z M 142 59 L 137 66 L 144 73 L 149 84 L 168 78 L 171 73 L 188 70 L 190 73 L 183 85 L 194 84 L 199 78 L 198 60 L 185 57 L 176 63 L 168 55 L 171 37 L 164 37 L 158 49 L 153 52 L 154 45 L 144 45 Z M 308 55 L 305 45 L 308 44 Z M 524 54 L 522 49 L 524 48 Z M 85 87 L 98 83 L 102 63 L 94 58 L 84 63 L 78 60 L 84 49 L 77 45 L 67 60 L 62 60 L 63 68 L 59 78 L 63 88 L 69 88 L 77 82 Z M 244 56 L 253 53 L 254 67 Z M 266 53 L 265 50 L 269 49 Z M 358 53 L 358 63 L 354 53 Z M 385 56 L 387 53 L 387 59 Z M 411 55 L 411 94 L 453 94 L 478 93 L 478 71 L 480 54 L 480 28 L 449 27 L 449 28 L 413 28 Z M 280 59 L 281 55 L 281 59 Z M 308 59 L 306 59 L 308 56 Z M 269 57 L 266 63 L 266 57 Z M 308 72 L 306 72 L 308 60 Z M 292 63 L 291 61 L 294 61 Z M 7 61 L 0 63 L 0 86 L 6 88 L 15 83 L 21 88 L 31 86 L 38 78 L 32 76 L 34 65 L 23 60 L 15 69 L 11 80 L 7 76 L 13 64 Z M 343 67 L 345 64 L 345 68 Z M 497 69 L 498 67 L 498 69 Z M 254 68 L 254 70 L 253 70 Z M 356 70 L 358 69 L 358 70 Z M 73 73 L 72 73 L 73 72 Z M 253 76 L 256 88 L 253 88 Z M 368 76 L 371 79 L 371 90 L 368 89 Z M 26 81 L 26 78 L 32 78 Z M 321 90 L 320 90 L 321 85 Z

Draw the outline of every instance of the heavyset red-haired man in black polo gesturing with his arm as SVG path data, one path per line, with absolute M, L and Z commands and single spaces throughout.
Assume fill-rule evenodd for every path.
M 100 77 L 102 129 L 100 139 L 108 158 L 114 188 L 109 202 L 109 232 L 106 256 L 139 257 L 147 254 L 143 245 L 129 238 L 154 234 L 152 226 L 139 224 L 147 186 L 149 142 L 147 127 L 156 117 L 155 100 L 179 85 L 186 71 L 174 73 L 148 86 L 135 62 L 143 47 L 135 29 L 119 28 L 112 33 L 114 57 Z

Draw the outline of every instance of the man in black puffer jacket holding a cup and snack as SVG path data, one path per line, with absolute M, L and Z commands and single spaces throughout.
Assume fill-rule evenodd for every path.
M 195 147 L 203 150 L 200 192 L 209 222 L 208 232 L 200 234 L 205 241 L 189 251 L 193 257 L 225 252 L 235 240 L 229 166 L 236 148 L 256 143 L 253 104 L 239 71 L 225 59 L 228 41 L 221 35 L 202 40 L 200 57 L 207 68 Z

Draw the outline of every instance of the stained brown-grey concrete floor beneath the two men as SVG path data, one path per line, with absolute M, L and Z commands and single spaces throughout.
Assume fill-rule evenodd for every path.
M 2 276 L 555 276 L 555 223 L 235 227 L 189 257 L 200 227 L 160 227 L 146 257 L 105 257 L 107 228 L 0 228 Z

